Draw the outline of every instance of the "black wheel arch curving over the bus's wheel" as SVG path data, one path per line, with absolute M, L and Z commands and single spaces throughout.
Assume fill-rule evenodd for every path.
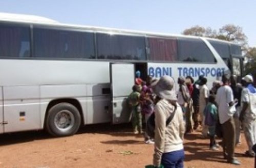
M 44 128 L 45 128 L 45 124 L 46 124 L 46 118 L 49 114 L 49 110 L 51 109 L 51 107 L 53 107 L 54 105 L 59 104 L 59 103 L 70 103 L 70 104 L 74 105 L 78 109 L 79 114 L 81 116 L 81 125 L 84 124 L 82 106 L 81 106 L 80 102 L 74 98 L 61 98 L 61 99 L 51 100 L 49 102 L 49 104 L 47 105 L 46 115 L 45 115 L 45 120 L 44 120 Z

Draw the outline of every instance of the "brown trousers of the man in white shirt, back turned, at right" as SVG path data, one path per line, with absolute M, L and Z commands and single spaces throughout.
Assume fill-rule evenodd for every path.
M 231 161 L 234 159 L 234 147 L 236 146 L 236 126 L 233 117 L 221 126 L 223 131 L 223 155 L 228 161 Z

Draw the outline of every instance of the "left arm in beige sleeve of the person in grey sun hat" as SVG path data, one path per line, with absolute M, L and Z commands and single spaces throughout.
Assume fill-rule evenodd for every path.
M 153 158 L 153 164 L 155 166 L 160 166 L 162 153 L 164 151 L 166 117 L 163 113 L 163 108 L 159 104 L 155 106 L 155 116 L 155 153 Z

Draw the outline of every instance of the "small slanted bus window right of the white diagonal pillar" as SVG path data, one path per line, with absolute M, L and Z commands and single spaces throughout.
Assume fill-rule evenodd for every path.
M 211 41 L 209 40 L 210 44 L 215 48 L 215 50 L 219 53 L 221 58 L 230 58 L 229 53 L 229 45 L 227 43 L 222 43 L 219 41 Z

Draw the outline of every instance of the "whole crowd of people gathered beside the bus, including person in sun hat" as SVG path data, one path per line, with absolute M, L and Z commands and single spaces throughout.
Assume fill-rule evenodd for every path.
M 142 119 L 155 115 L 155 137 L 144 132 L 145 143 L 155 144 L 154 166 L 183 167 L 183 134 L 201 130 L 202 138 L 209 138 L 209 149 L 223 148 L 223 157 L 231 164 L 240 165 L 234 149 L 241 144 L 240 131 L 244 130 L 248 150 L 245 156 L 254 157 L 256 144 L 256 73 L 244 76 L 225 74 L 222 81 L 207 87 L 207 78 L 186 76 L 175 80 L 170 76 L 160 79 L 136 72 L 133 92 L 129 96 L 132 106 L 132 125 L 135 134 L 142 133 Z M 174 116 L 169 124 L 166 120 Z M 222 141 L 217 142 L 216 136 Z

